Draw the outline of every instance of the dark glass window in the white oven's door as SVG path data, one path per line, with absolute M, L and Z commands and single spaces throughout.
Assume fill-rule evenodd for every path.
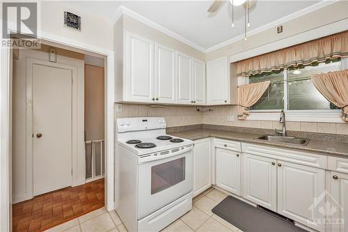
M 151 167 L 151 195 L 185 180 L 185 157 Z

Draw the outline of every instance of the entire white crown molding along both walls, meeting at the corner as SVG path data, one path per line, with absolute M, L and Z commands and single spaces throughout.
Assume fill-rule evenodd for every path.
M 303 8 L 302 10 L 298 10 L 295 13 L 292 13 L 290 15 L 282 17 L 279 20 L 276 20 L 274 22 L 270 22 L 269 24 L 264 24 L 263 26 L 260 26 L 257 29 L 253 29 L 251 31 L 248 31 L 247 34 L 248 34 L 248 36 L 253 36 L 257 33 L 260 33 L 260 32 L 265 31 L 267 29 L 271 29 L 272 27 L 278 26 L 279 24 L 289 22 L 290 20 L 294 20 L 296 17 L 306 15 L 308 13 L 315 11 L 315 10 L 318 10 L 319 8 L 329 6 L 332 3 L 335 3 L 338 1 L 340 1 L 340 0 L 320 1 L 319 3 L 315 3 L 312 6 L 308 6 L 307 8 Z M 213 47 L 209 47 L 209 48 L 205 49 L 204 47 L 197 45 L 196 43 L 192 42 L 191 40 L 188 40 L 187 38 L 184 38 L 183 36 L 180 36 L 177 33 L 173 32 L 169 29 L 166 29 L 164 26 L 161 26 L 161 25 L 157 24 L 156 22 L 149 20 L 147 17 L 144 17 L 143 15 L 139 15 L 138 13 L 134 12 L 133 10 L 130 10 L 129 8 L 126 8 L 125 6 L 122 6 L 122 5 L 117 8 L 116 13 L 115 13 L 113 19 L 111 20 L 111 23 L 115 24 L 120 19 L 120 17 L 122 17 L 122 15 L 127 15 L 129 17 L 134 18 L 135 20 L 143 22 L 143 24 L 151 26 L 153 29 L 157 29 L 158 31 L 165 33 L 167 36 L 171 36 L 172 38 L 175 38 L 176 40 L 179 40 L 180 42 L 184 42 L 184 44 L 189 45 L 190 47 L 193 47 L 195 49 L 198 49 L 198 51 L 203 52 L 205 54 L 207 54 L 208 52 L 212 52 L 216 49 L 220 49 L 221 47 L 225 47 L 226 45 L 230 45 L 233 42 L 237 42 L 239 40 L 244 39 L 244 33 L 243 33 L 239 36 L 236 36 L 234 38 L 231 38 L 229 40 L 221 42 L 218 45 L 214 45 Z

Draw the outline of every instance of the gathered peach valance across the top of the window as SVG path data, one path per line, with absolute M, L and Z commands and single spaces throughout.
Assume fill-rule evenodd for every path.
M 274 72 L 348 56 L 348 31 L 237 62 L 239 76 Z

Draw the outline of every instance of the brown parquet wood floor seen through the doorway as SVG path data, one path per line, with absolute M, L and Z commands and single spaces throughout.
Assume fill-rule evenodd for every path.
M 104 206 L 104 178 L 13 205 L 13 231 L 44 231 Z

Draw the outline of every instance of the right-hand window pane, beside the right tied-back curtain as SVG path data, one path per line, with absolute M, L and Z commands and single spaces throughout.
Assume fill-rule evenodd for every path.
M 338 109 L 317 91 L 310 79 L 315 74 L 337 70 L 340 70 L 340 61 L 287 70 L 287 108 L 290 110 Z

